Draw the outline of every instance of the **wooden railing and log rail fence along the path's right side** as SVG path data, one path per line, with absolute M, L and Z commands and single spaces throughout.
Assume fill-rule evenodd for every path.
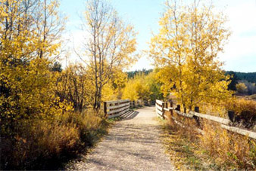
M 243 136 L 248 136 L 252 139 L 256 139 L 256 133 L 249 131 L 249 130 L 244 130 L 239 127 L 232 127 L 230 126 L 233 123 L 233 112 L 229 111 L 229 119 L 226 118 L 220 118 L 212 115 L 205 115 L 199 113 L 199 108 L 195 107 L 195 111 L 189 111 L 189 113 L 182 112 L 180 111 L 180 105 L 176 105 L 176 108 L 173 108 L 173 103 L 172 102 L 163 102 L 161 100 L 156 100 L 155 104 L 155 111 L 156 114 L 163 118 L 163 119 L 169 119 L 173 120 L 176 124 L 180 125 L 180 127 L 186 127 L 184 124 L 181 122 L 177 121 L 176 118 L 173 115 L 173 112 L 175 112 L 177 115 L 180 115 L 181 117 L 185 118 L 191 118 L 194 119 L 195 122 L 198 124 L 198 126 L 201 125 L 200 120 L 208 120 L 208 121 L 214 121 L 218 124 L 220 124 L 220 127 L 223 129 L 229 130 L 234 133 L 239 133 Z M 186 109 L 185 109 L 186 111 Z M 169 116 L 167 115 L 167 112 L 170 114 Z M 199 119 L 201 118 L 201 119 Z M 202 130 L 200 127 L 196 127 L 195 130 L 197 130 L 199 133 L 204 134 L 204 130 Z

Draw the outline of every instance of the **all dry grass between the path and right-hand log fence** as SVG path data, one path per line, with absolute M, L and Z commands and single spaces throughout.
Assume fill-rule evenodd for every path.
M 170 134 L 167 140 L 169 153 L 181 156 L 178 162 L 175 161 L 180 168 L 186 164 L 190 169 L 256 169 L 254 140 L 230 133 L 211 121 L 200 121 L 199 127 L 204 131 L 200 134 L 193 119 L 176 114 L 173 117 L 185 126 L 181 127 L 171 119 L 164 128 Z

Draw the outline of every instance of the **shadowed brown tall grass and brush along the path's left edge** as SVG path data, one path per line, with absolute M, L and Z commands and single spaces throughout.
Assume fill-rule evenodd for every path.
M 0 169 L 58 169 L 106 133 L 102 113 L 68 112 L 48 120 L 22 121 L 1 139 Z

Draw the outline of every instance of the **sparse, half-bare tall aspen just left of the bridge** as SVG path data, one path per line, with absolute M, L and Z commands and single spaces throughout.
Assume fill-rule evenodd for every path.
M 136 33 L 133 26 L 117 16 L 117 11 L 105 0 L 91 0 L 84 14 L 84 57 L 92 71 L 94 85 L 93 108 L 101 107 L 102 88 L 114 75 L 136 61 Z

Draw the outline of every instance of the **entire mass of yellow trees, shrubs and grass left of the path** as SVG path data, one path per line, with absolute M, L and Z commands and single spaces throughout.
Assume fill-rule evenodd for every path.
M 59 5 L 0 0 L 0 169 L 58 169 L 94 145 L 111 123 L 101 103 L 121 98 L 123 69 L 136 61 L 133 26 L 95 0 L 83 20 L 92 36 L 77 50 L 82 64 L 61 68 Z

